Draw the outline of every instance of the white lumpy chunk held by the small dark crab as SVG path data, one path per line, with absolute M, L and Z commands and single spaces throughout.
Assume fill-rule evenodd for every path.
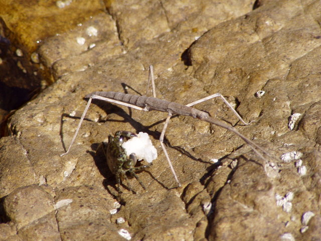
M 157 158 L 156 148 L 152 145 L 147 133 L 140 132 L 137 137 L 129 139 L 122 144 L 127 156 L 135 153 L 138 160 L 145 160 L 151 163 Z

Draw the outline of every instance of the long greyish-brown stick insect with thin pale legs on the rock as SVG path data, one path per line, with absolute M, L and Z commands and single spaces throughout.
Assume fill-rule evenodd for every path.
M 139 96 L 139 95 L 133 95 L 133 94 L 125 94 L 125 93 L 113 92 L 113 91 L 108 91 L 108 92 L 96 91 L 96 92 L 92 92 L 90 94 L 87 94 L 85 96 L 85 98 L 88 98 L 88 102 L 87 102 L 84 112 L 82 113 L 82 116 L 80 118 L 80 122 L 79 122 L 78 127 L 75 131 L 74 137 L 70 143 L 70 146 L 69 146 L 67 152 L 62 154 L 61 156 L 66 155 L 70 151 L 70 148 L 73 145 L 73 143 L 77 137 L 77 134 L 79 132 L 79 129 L 81 127 L 81 124 L 83 122 L 83 119 L 86 115 L 86 112 L 90 106 L 92 99 L 100 99 L 100 100 L 124 105 L 127 107 L 142 110 L 142 111 L 158 110 L 158 111 L 162 111 L 162 112 L 168 112 L 168 117 L 166 118 L 164 128 L 161 133 L 161 137 L 159 138 L 159 142 L 160 142 L 161 147 L 165 153 L 166 159 L 169 163 L 169 166 L 170 166 L 171 171 L 174 175 L 174 178 L 179 186 L 181 186 L 181 182 L 179 181 L 179 179 L 177 177 L 177 174 L 174 170 L 171 159 L 170 159 L 170 157 L 166 151 L 165 145 L 163 143 L 166 129 L 168 127 L 168 124 L 169 124 L 170 119 L 173 114 L 192 116 L 193 118 L 198 118 L 201 121 L 208 122 L 210 124 L 225 128 L 226 130 L 233 132 L 234 134 L 239 136 L 246 144 L 248 144 L 260 158 L 262 158 L 264 161 L 266 161 L 266 159 L 261 155 L 261 153 L 259 151 L 261 151 L 263 154 L 268 155 L 268 156 L 269 156 L 269 154 L 263 148 L 261 148 L 259 145 L 255 144 L 253 141 L 251 141 L 250 139 L 248 139 L 244 135 L 242 135 L 237 129 L 235 129 L 234 127 L 227 125 L 223 122 L 218 121 L 214 117 L 211 117 L 209 115 L 209 113 L 207 113 L 205 111 L 191 107 L 191 106 L 201 103 L 205 100 L 212 99 L 215 97 L 220 97 L 225 102 L 225 104 L 234 112 L 234 114 L 240 119 L 240 121 L 244 125 L 249 125 L 251 122 L 246 123 L 243 120 L 243 118 L 238 114 L 238 112 L 232 107 L 232 105 L 224 98 L 223 95 L 221 95 L 220 93 L 216 93 L 216 94 L 212 94 L 210 96 L 207 96 L 205 98 L 199 99 L 197 101 L 194 101 L 192 103 L 189 103 L 187 105 L 183 105 L 183 104 L 179 104 L 176 102 L 171 102 L 168 100 L 156 98 L 154 77 L 153 77 L 153 67 L 151 65 L 149 66 L 149 77 L 148 77 L 148 84 L 147 84 L 146 93 L 148 92 L 148 86 L 149 86 L 150 80 L 151 80 L 151 84 L 152 84 L 153 97 L 147 97 L 146 95 Z

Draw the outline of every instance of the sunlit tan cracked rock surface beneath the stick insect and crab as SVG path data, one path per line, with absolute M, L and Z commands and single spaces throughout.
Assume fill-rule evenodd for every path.
M 133 240 L 285 240 L 284 234 L 317 240 L 321 6 L 258 3 L 252 10 L 250 1 L 106 1 L 106 12 L 44 41 L 38 52 L 56 82 L 12 116 L 13 137 L 0 140 L 1 238 L 123 240 L 118 232 L 125 229 Z M 91 26 L 97 36 L 86 32 Z M 266 149 L 268 162 L 226 130 L 173 117 L 166 143 L 183 184 L 176 188 L 157 141 L 167 114 L 99 101 L 90 106 L 70 153 L 60 157 L 86 105 L 83 97 L 124 92 L 122 83 L 129 93 L 144 93 L 150 64 L 159 98 L 189 103 L 216 92 L 226 96 L 254 122 L 236 125 L 220 99 L 196 107 L 236 125 Z M 259 90 L 265 91 L 260 98 Z M 302 116 L 289 130 L 293 113 Z M 153 166 L 137 174 L 147 191 L 130 179 L 137 194 L 122 186 L 120 207 L 115 180 L 102 152 L 96 153 L 118 130 L 147 132 L 158 151 Z M 280 159 L 291 151 L 302 153 L 301 161 Z M 32 208 L 41 205 L 47 208 Z M 307 211 L 315 216 L 302 229 Z M 118 217 L 125 222 L 117 223 Z

